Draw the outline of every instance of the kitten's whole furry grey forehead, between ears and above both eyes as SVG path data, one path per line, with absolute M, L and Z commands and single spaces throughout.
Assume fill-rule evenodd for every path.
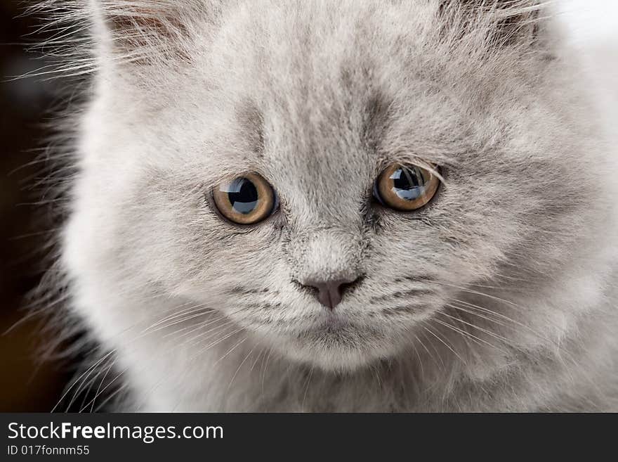
M 253 169 L 303 195 L 331 195 L 346 178 L 360 195 L 385 162 L 444 165 L 474 143 L 465 105 L 478 97 L 475 67 L 449 66 L 431 46 L 435 3 L 318 6 L 261 15 L 246 2 L 197 57 L 195 94 L 206 82 L 204 105 L 217 108 L 207 117 L 221 132 L 206 138 L 219 170 Z

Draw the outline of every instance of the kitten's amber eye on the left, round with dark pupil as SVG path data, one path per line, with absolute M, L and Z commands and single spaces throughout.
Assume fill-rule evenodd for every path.
M 258 174 L 248 173 L 223 181 L 212 191 L 223 217 L 237 224 L 256 224 L 277 211 L 277 194 Z

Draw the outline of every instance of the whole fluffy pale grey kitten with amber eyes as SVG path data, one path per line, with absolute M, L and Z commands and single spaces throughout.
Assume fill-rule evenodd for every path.
M 541 3 L 57 8 L 94 68 L 79 380 L 113 357 L 127 411 L 617 411 L 615 152 Z

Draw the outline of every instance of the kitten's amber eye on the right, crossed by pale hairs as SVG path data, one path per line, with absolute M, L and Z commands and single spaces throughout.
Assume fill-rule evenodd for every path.
M 438 191 L 440 179 L 416 165 L 386 167 L 374 184 L 374 197 L 382 205 L 400 212 L 412 212 L 426 205 Z

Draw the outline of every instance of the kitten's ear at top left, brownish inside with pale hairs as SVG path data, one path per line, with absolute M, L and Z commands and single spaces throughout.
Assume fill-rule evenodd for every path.
M 195 18 L 208 12 L 197 0 L 91 0 L 107 51 L 122 63 L 188 60 Z M 201 8 L 200 8 L 201 7 Z

